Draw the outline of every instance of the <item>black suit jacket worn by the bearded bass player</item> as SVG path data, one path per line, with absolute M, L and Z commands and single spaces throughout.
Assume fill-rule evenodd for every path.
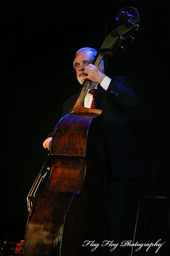
M 62 116 L 73 109 L 81 90 L 66 100 Z M 138 104 L 138 97 L 127 77 L 114 77 L 104 90 L 98 86 L 96 108 L 103 111 L 103 119 L 108 135 L 108 152 L 111 171 L 116 179 L 132 179 L 142 176 L 142 166 L 130 132 L 130 116 Z M 52 137 L 53 131 L 48 134 Z

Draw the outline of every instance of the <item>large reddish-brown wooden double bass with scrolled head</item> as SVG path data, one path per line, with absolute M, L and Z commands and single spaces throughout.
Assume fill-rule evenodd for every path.
M 139 29 L 139 13 L 133 7 L 121 9 L 116 20 L 119 27 L 105 38 L 94 59 L 95 66 L 103 58 L 113 57 Z M 25 256 L 101 255 L 107 135 L 102 111 L 83 106 L 90 85 L 89 80 L 83 83 L 73 109 L 55 129 L 48 182 L 44 189 L 36 189 L 30 207 Z M 91 241 L 91 247 L 85 246 L 85 241 Z

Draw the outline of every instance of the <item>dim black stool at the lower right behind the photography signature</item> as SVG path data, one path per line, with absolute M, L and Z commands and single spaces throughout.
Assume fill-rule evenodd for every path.
M 166 196 L 160 196 L 160 195 L 143 195 L 143 196 L 139 196 L 138 197 L 138 202 L 137 202 L 137 211 L 136 211 L 136 220 L 135 220 L 135 227 L 134 227 L 134 233 L 133 233 L 133 241 L 132 244 L 134 244 L 135 241 L 135 235 L 136 235 L 136 228 L 137 228 L 137 223 L 138 223 L 138 219 L 139 219 L 139 209 L 140 209 L 140 204 L 141 201 L 144 200 L 146 201 L 146 212 L 145 212 L 145 218 L 144 218 L 144 230 L 143 230 L 143 239 L 145 236 L 145 231 L 146 231 L 146 224 L 147 224 L 147 211 L 148 211 L 148 204 L 151 200 L 161 200 L 164 201 L 166 204 L 166 208 L 167 208 L 167 224 L 168 224 L 168 239 L 169 239 L 169 248 L 170 248 L 170 209 L 169 209 L 169 200 L 170 197 L 166 197 Z M 131 251 L 130 251 L 130 256 L 132 256 L 133 254 L 133 246 L 131 247 Z M 140 254 L 141 256 L 143 255 Z

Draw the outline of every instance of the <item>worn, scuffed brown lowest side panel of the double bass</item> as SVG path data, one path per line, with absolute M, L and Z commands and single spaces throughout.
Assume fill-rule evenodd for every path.
M 28 218 L 25 256 L 59 256 L 65 216 L 74 193 L 41 190 Z M 62 203 L 61 203 L 62 202 Z

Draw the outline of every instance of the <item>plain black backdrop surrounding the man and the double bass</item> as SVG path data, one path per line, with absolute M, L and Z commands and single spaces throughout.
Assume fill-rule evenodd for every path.
M 75 52 L 85 46 L 99 50 L 105 35 L 118 26 L 117 12 L 127 6 L 139 12 L 139 31 L 134 42 L 127 40 L 125 50 L 117 50 L 114 58 L 108 59 L 106 74 L 127 76 L 139 96 L 131 124 L 146 176 L 131 182 L 125 236 L 131 239 L 134 196 L 169 195 L 169 1 L 3 1 L 2 239 L 5 233 L 11 241 L 24 239 L 26 197 L 47 154 L 42 143 L 60 117 L 63 101 L 79 89 L 72 66 Z M 154 213 L 150 217 L 154 241 L 167 240 L 164 204 L 155 203 L 150 211 Z

